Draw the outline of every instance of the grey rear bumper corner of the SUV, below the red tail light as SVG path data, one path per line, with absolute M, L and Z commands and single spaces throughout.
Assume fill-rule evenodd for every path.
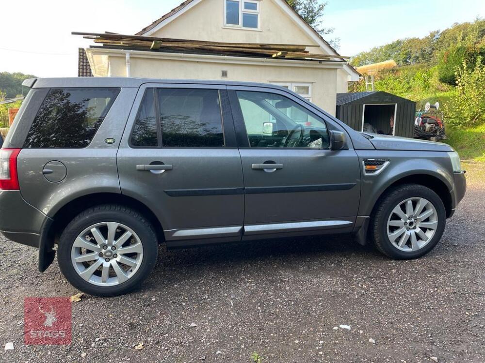
M 0 232 L 9 240 L 38 248 L 46 219 L 18 190 L 0 191 Z

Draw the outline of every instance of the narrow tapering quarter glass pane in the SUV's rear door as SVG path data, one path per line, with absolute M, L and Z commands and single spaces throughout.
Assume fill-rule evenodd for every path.
M 145 91 L 131 134 L 131 145 L 138 147 L 158 146 L 155 94 L 153 89 Z

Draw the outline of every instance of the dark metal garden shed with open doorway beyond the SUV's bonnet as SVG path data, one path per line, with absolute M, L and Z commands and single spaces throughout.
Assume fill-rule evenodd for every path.
M 337 118 L 356 131 L 413 137 L 416 102 L 383 91 L 337 93 Z M 394 117 L 391 131 L 390 118 Z

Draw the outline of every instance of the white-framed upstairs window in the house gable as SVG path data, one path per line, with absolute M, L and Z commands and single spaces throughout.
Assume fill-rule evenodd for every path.
M 259 29 L 259 1 L 225 0 L 225 26 L 242 29 Z

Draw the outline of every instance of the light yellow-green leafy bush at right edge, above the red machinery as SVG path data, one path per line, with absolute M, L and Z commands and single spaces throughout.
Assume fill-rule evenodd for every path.
M 447 122 L 457 127 L 474 127 L 485 123 L 485 64 L 478 56 L 473 69 L 467 62 L 456 70 L 456 91 L 445 103 Z

